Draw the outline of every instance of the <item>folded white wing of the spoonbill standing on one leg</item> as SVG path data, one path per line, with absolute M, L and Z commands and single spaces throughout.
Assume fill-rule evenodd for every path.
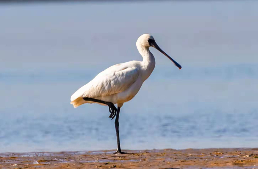
M 119 64 L 111 66 L 77 90 L 71 96 L 71 101 L 79 97 L 94 98 L 123 92 L 136 81 L 138 76 L 139 70 L 136 67 Z

